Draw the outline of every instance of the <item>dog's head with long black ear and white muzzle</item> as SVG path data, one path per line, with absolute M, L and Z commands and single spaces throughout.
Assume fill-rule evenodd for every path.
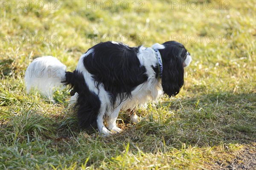
M 192 58 L 186 48 L 176 41 L 154 44 L 152 47 L 158 49 L 162 57 L 163 93 L 169 97 L 176 96 L 184 83 L 184 67 L 189 65 Z

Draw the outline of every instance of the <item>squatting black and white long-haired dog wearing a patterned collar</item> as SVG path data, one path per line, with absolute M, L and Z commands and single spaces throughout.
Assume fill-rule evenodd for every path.
M 58 59 L 35 59 L 27 68 L 27 92 L 37 88 L 51 96 L 54 87 L 71 85 L 71 102 L 78 107 L 79 126 L 96 127 L 104 135 L 119 133 L 119 111 L 138 122 L 134 108 L 165 94 L 176 96 L 183 86 L 184 67 L 192 58 L 175 41 L 154 44 L 151 48 L 129 47 L 119 42 L 102 42 L 84 53 L 76 70 L 66 71 Z M 108 128 L 103 123 L 107 116 Z

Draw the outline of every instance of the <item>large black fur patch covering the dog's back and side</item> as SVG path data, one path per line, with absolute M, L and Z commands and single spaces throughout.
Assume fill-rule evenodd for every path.
M 139 47 L 102 42 L 92 47 L 94 52 L 84 57 L 84 67 L 111 95 L 112 105 L 117 97 L 122 102 L 131 96 L 131 91 L 147 81 L 145 67 L 137 58 Z

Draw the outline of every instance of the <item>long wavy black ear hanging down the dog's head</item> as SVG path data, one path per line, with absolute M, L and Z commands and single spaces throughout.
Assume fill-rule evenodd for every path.
M 163 75 L 162 75 L 162 87 L 163 94 L 167 96 L 175 97 L 179 92 L 180 88 L 184 84 L 184 68 L 183 58 L 181 53 L 172 53 L 169 55 L 162 55 L 163 60 Z

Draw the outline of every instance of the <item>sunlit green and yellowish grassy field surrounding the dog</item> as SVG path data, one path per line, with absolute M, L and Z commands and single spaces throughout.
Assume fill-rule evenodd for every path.
M 0 1 L 0 169 L 255 169 L 256 1 Z M 67 89 L 26 94 L 33 59 L 73 71 L 100 41 L 176 40 L 192 63 L 176 98 L 102 137 L 77 126 Z

